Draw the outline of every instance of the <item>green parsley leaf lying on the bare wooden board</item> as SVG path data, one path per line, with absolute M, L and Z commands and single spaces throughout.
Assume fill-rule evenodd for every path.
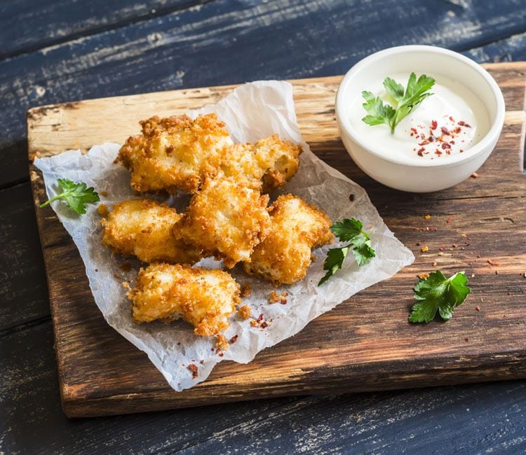
M 437 270 L 429 274 L 427 279 L 419 281 L 414 286 L 414 299 L 418 300 L 411 309 L 410 322 L 429 322 L 436 312 L 444 321 L 449 321 L 453 311 L 471 292 L 466 286 L 468 279 L 464 272 L 456 273 L 446 278 Z

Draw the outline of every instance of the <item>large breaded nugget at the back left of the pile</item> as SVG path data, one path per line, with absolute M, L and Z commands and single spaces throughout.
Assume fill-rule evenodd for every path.
M 223 149 L 232 146 L 224 123 L 214 113 L 140 122 L 142 134 L 129 137 L 117 161 L 130 169 L 137 191 L 184 190 L 195 193 L 208 176 L 220 170 Z

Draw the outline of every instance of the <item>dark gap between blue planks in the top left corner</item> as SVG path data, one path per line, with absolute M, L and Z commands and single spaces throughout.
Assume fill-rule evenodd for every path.
M 168 8 L 168 7 L 154 8 L 155 13 L 147 13 L 146 15 L 138 16 L 137 18 L 129 18 L 127 20 L 123 20 L 121 22 L 115 22 L 114 24 L 107 25 L 107 26 L 94 27 L 93 29 L 90 29 L 89 31 L 86 30 L 86 31 L 79 31 L 76 33 L 72 33 L 62 38 L 56 38 L 54 41 L 50 41 L 44 46 L 28 45 L 26 48 L 22 48 L 15 52 L 0 53 L 0 62 L 4 60 L 9 60 L 9 59 L 15 59 L 17 57 L 22 57 L 23 55 L 31 54 L 32 52 L 39 52 L 39 50 L 44 50 L 46 48 L 52 48 L 56 45 L 67 44 L 70 41 L 75 41 L 79 38 L 89 38 L 90 36 L 102 34 L 106 31 L 117 30 L 123 27 L 128 27 L 129 25 L 140 24 L 140 22 L 147 22 L 148 20 L 162 18 L 163 16 L 166 16 L 172 13 L 181 13 L 183 11 L 190 10 L 191 8 L 195 8 L 196 6 L 203 6 L 208 3 L 213 3 L 213 1 L 215 0 L 198 0 L 196 3 L 190 3 L 190 1 L 188 1 L 188 2 L 185 2 L 181 6 L 175 6 L 173 8 Z

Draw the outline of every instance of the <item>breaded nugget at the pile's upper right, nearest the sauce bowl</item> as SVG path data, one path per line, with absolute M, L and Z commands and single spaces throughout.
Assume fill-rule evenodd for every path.
M 225 175 L 242 174 L 254 181 L 262 181 L 268 193 L 283 188 L 299 167 L 302 148 L 290 141 L 282 141 L 277 134 L 260 139 L 256 144 L 235 144 L 224 149 L 222 170 Z

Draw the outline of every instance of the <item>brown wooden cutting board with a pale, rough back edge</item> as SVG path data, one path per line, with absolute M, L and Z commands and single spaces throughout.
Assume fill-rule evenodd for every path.
M 207 381 L 173 391 L 147 356 L 109 327 L 83 263 L 49 207 L 36 209 L 55 330 L 60 393 L 68 416 L 99 416 L 252 400 L 526 377 L 526 63 L 486 66 L 506 99 L 499 144 L 479 170 L 450 190 L 401 193 L 372 181 L 339 140 L 334 99 L 340 76 L 292 81 L 304 139 L 369 193 L 416 260 L 354 295 L 248 365 L 223 362 Z M 92 99 L 31 109 L 29 160 L 70 148 L 121 143 L 137 121 L 217 102 L 234 86 Z M 46 200 L 30 165 L 35 204 Z M 426 219 L 426 215 L 431 218 Z M 429 251 L 422 253 L 422 246 Z M 441 248 L 442 247 L 442 248 Z M 443 249 L 443 251 L 441 251 Z M 465 270 L 472 294 L 447 323 L 407 322 L 417 274 Z

